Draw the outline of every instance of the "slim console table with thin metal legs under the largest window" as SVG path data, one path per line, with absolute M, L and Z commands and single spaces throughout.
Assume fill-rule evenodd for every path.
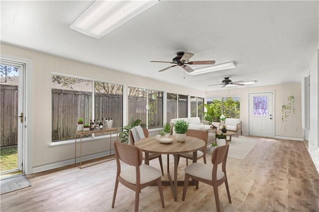
M 79 167 L 80 169 L 82 169 L 82 136 L 90 135 L 90 134 L 110 133 L 110 155 L 111 155 L 111 143 L 112 143 L 112 133 L 113 132 L 116 132 L 116 136 L 118 136 L 118 129 L 117 128 L 90 130 L 90 131 L 80 131 L 80 132 L 77 131 L 77 132 L 75 132 L 75 154 L 74 154 L 74 163 L 75 163 L 75 165 L 77 167 Z M 80 136 L 80 162 L 76 163 L 76 138 L 78 136 Z M 98 163 L 95 163 L 95 164 L 98 164 Z M 95 165 L 95 164 L 93 164 L 93 165 Z M 88 167 L 88 166 L 86 166 L 86 167 Z

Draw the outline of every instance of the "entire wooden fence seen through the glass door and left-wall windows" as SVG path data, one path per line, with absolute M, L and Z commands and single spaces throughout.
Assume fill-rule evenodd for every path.
M 18 114 L 18 92 L 17 86 L 1 85 L 0 91 L 0 145 L 17 145 L 17 123 Z M 163 100 L 150 100 L 149 128 L 162 126 L 162 105 Z M 141 119 L 146 123 L 147 109 L 146 98 L 129 97 L 129 114 L 134 119 Z M 119 107 L 120 106 L 120 107 Z M 95 117 L 112 117 L 113 126 L 123 126 L 123 98 L 122 95 L 95 94 Z M 179 102 L 180 115 L 187 116 L 186 101 Z M 176 117 L 176 100 L 167 100 L 167 121 Z M 186 115 L 185 115 L 186 114 Z M 70 139 L 74 137 L 76 124 L 79 117 L 84 123 L 89 123 L 92 117 L 92 93 L 70 90 L 52 89 L 52 141 Z

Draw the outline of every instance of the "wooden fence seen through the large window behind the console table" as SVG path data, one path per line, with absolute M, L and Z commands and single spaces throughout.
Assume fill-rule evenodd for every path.
M 113 127 L 122 127 L 122 105 L 122 95 L 95 94 L 96 120 L 112 117 Z M 80 117 L 90 123 L 92 93 L 52 89 L 52 141 L 73 138 Z

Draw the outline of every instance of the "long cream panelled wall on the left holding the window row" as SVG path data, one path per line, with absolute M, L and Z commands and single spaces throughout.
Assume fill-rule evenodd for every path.
M 204 97 L 205 92 L 162 83 L 149 78 L 142 78 L 105 68 L 76 62 L 57 56 L 47 55 L 6 44 L 0 45 L 1 54 L 27 58 L 32 61 L 32 72 L 26 73 L 29 86 L 27 94 L 32 97 L 26 114 L 28 147 L 32 148 L 32 173 L 74 163 L 74 142 L 64 145 L 51 145 L 51 72 L 106 82 L 155 89 L 174 91 L 178 94 Z M 32 82 L 32 83 L 30 83 Z M 31 85 L 30 85 L 31 84 Z M 28 120 L 30 120 L 28 122 Z M 128 120 L 128 117 L 126 117 Z M 127 123 L 125 123 L 127 124 Z M 114 138 L 115 139 L 115 138 Z M 109 141 L 92 139 L 82 143 L 82 155 L 98 154 L 109 150 Z M 77 153 L 79 155 L 79 152 Z M 30 174 L 30 173 L 28 173 Z

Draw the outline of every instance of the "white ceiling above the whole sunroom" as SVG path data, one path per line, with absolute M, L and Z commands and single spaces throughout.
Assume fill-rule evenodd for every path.
M 221 89 L 207 85 L 229 76 L 255 86 L 301 82 L 319 47 L 318 0 L 160 0 L 100 39 L 70 28 L 92 2 L 1 0 L 0 40 L 202 91 Z M 172 64 L 149 62 L 171 61 L 179 49 L 195 54 L 190 61 L 237 68 L 190 76 L 180 67 L 158 72 Z

